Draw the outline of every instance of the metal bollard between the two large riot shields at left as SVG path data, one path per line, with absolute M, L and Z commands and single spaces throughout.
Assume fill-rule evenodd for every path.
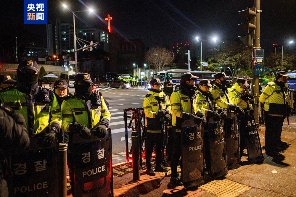
M 67 149 L 68 144 L 59 143 L 59 196 L 67 196 Z

